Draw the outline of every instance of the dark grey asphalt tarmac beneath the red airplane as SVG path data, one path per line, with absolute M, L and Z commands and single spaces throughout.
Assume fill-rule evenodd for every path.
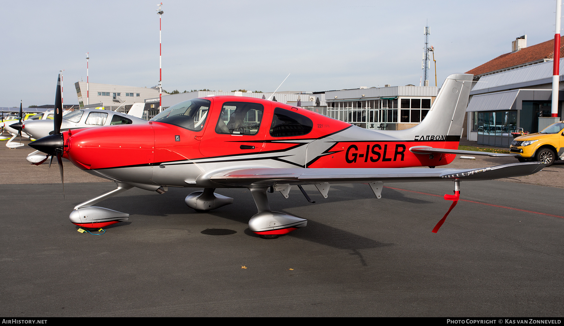
M 10 169 L 37 168 L 58 178 L 56 163 Z M 564 315 L 560 187 L 462 182 L 466 201 L 438 234 L 451 182 L 387 183 L 380 200 L 367 184 L 328 199 L 305 187 L 315 204 L 294 188 L 268 194 L 271 207 L 308 226 L 265 240 L 248 230 L 246 189 L 217 190 L 235 202 L 196 213 L 190 189 L 134 188 L 97 204 L 129 221 L 91 235 L 68 215 L 113 183 L 68 181 L 64 198 L 56 181 L 3 183 L 2 316 Z

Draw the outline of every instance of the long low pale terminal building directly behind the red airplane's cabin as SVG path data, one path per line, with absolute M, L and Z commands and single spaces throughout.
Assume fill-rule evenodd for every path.
M 434 86 L 361 87 L 325 92 L 284 91 L 275 94 L 254 92 L 193 91 L 163 95 L 162 108 L 185 100 L 214 95 L 269 98 L 299 106 L 367 129 L 402 130 L 417 125 L 431 108 L 438 93 Z M 158 97 L 145 100 L 143 118 L 158 114 Z

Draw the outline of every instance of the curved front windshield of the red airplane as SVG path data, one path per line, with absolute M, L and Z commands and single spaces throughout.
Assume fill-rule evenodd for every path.
M 188 130 L 204 128 L 211 102 L 205 99 L 191 99 L 180 102 L 158 113 L 150 121 L 165 122 Z

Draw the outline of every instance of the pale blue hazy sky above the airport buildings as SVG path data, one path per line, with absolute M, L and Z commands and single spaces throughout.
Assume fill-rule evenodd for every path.
M 0 106 L 52 104 L 64 69 L 73 84 L 155 86 L 157 1 L 3 1 Z M 430 26 L 439 86 L 511 50 L 527 34 L 554 37 L 554 0 L 536 1 L 166 1 L 166 90 L 323 91 L 418 85 L 423 28 Z M 431 66 L 430 85 L 434 85 Z

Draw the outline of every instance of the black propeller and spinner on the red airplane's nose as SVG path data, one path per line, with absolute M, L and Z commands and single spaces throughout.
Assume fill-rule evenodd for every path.
M 21 112 L 21 108 L 20 108 L 20 112 Z M 61 74 L 59 74 L 59 77 L 57 78 L 57 90 L 55 92 L 55 116 L 53 118 L 53 125 L 54 125 L 53 134 L 37 139 L 36 141 L 29 143 L 29 146 L 34 149 L 37 149 L 40 152 L 47 154 L 45 160 L 36 163 L 36 165 L 45 162 L 47 158 L 49 158 L 49 156 L 51 156 L 51 162 L 53 161 L 53 156 L 57 157 L 57 161 L 59 162 L 59 171 L 61 173 L 61 183 L 63 184 L 63 196 L 64 196 L 64 190 L 65 190 L 64 178 L 63 178 L 64 139 L 63 139 L 63 134 L 61 134 L 62 123 L 63 123 L 63 99 L 61 98 Z M 49 162 L 49 166 L 51 166 L 51 162 Z

